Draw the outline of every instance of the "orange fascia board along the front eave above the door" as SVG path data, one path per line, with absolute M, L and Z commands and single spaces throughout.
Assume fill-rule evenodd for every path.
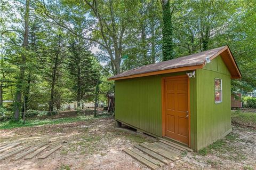
M 180 72 L 180 71 L 188 71 L 188 70 L 195 70 L 203 68 L 203 64 L 199 64 L 196 66 L 186 66 L 186 67 L 179 67 L 179 68 L 173 68 L 173 69 L 167 69 L 167 70 L 159 70 L 154 72 L 146 72 L 138 75 L 131 75 L 131 76 L 125 76 L 125 77 L 117 77 L 117 78 L 108 78 L 108 80 L 120 80 L 120 79 L 128 79 L 128 78 L 136 78 L 136 77 L 145 77 L 145 76 L 153 76 L 153 75 L 160 75 L 160 74 L 166 74 L 171 72 Z

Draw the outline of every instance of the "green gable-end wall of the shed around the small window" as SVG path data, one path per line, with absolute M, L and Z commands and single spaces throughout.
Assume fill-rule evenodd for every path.
M 231 131 L 230 73 L 218 56 L 196 72 L 196 150 L 202 149 Z M 222 79 L 222 102 L 214 101 L 214 79 Z

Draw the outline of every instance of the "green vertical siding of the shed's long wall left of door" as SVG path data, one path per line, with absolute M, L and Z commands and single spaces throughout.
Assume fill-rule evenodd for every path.
M 150 134 L 162 136 L 162 77 L 185 74 L 186 72 L 176 72 L 116 80 L 115 119 Z

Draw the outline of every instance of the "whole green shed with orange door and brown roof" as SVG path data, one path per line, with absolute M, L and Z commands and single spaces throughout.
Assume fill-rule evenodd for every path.
M 232 131 L 230 79 L 241 78 L 228 46 L 134 68 L 115 80 L 116 125 L 197 151 Z

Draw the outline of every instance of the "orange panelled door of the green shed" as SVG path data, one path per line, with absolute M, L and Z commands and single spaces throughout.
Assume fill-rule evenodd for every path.
M 188 144 L 188 79 L 164 79 L 165 136 Z

